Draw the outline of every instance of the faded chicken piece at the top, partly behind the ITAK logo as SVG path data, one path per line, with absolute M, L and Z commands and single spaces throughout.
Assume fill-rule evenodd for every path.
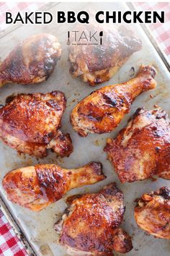
M 103 30 L 103 27 L 96 30 L 99 29 Z M 89 25 L 84 32 L 88 35 Z M 115 26 L 112 30 L 105 27 L 103 35 L 102 45 L 69 47 L 70 73 L 74 77 L 81 76 L 91 86 L 108 81 L 135 51 L 142 48 L 140 39 L 127 27 Z

